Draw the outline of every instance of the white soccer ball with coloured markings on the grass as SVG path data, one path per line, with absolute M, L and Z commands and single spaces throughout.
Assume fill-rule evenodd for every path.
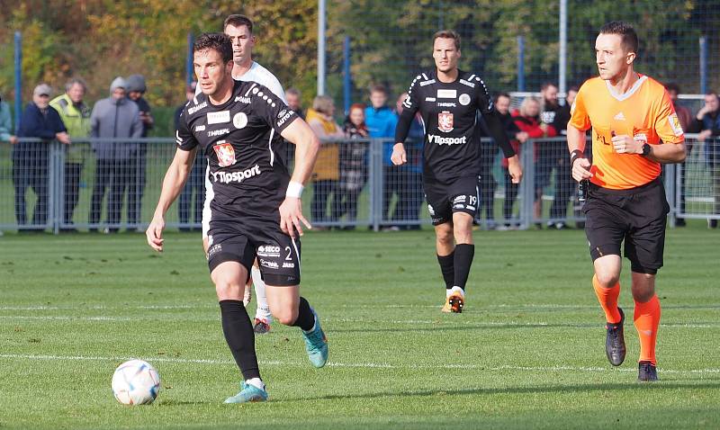
M 145 405 L 157 398 L 160 375 L 148 362 L 130 360 L 112 375 L 112 394 L 123 405 Z

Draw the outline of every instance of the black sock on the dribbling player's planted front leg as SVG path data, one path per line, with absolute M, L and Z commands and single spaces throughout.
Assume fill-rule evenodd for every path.
M 222 333 L 245 381 L 260 378 L 255 354 L 255 332 L 240 300 L 220 300 Z

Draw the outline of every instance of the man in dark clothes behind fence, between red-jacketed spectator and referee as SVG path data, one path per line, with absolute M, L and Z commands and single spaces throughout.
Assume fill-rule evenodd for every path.
M 540 113 L 540 126 L 543 130 L 553 128 L 556 136 L 565 136 L 565 131 L 570 121 L 570 106 L 565 103 L 561 106 L 558 103 L 557 86 L 551 83 L 545 83 L 541 88 L 543 96 L 543 111 Z M 550 218 L 547 221 L 547 228 L 557 228 L 562 230 L 567 228 L 565 219 L 568 213 L 568 204 L 570 196 L 575 187 L 572 181 L 570 169 L 570 160 L 567 157 L 567 149 L 564 141 L 540 143 L 540 175 L 536 177 L 536 190 L 538 193 L 536 199 L 540 205 L 542 212 L 543 190 L 550 184 L 550 177 L 555 171 L 555 186 L 553 193 L 553 203 L 550 205 Z

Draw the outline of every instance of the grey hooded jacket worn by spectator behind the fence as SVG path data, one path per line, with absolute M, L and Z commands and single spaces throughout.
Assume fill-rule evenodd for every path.
M 129 159 L 136 157 L 142 134 L 138 105 L 127 98 L 115 100 L 112 97 L 98 100 L 90 115 L 92 138 L 130 138 L 128 142 L 94 142 L 93 150 L 98 159 Z

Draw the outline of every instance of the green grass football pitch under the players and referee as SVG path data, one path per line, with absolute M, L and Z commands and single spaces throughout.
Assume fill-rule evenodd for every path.
M 581 231 L 475 239 L 466 310 L 445 315 L 431 230 L 305 235 L 302 291 L 329 365 L 312 368 L 297 329 L 274 324 L 257 336 L 271 400 L 233 406 L 199 234 L 167 234 L 162 255 L 139 234 L 6 234 L 0 429 L 720 427 L 720 231 L 668 231 L 655 384 L 636 382 L 632 323 L 626 363 L 605 358 Z M 632 316 L 627 262 L 622 284 Z M 131 357 L 161 375 L 150 406 L 112 397 Z

